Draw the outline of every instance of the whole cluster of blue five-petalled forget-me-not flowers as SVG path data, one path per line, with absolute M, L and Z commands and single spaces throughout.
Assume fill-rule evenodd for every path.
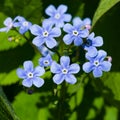
M 103 45 L 103 38 L 95 36 L 94 32 L 90 33 L 91 20 L 89 18 L 82 20 L 80 17 L 72 19 L 72 16 L 66 13 L 67 9 L 66 5 L 60 5 L 57 9 L 53 5 L 48 6 L 45 13 L 49 18 L 42 21 L 42 26 L 32 25 L 22 16 L 17 16 L 14 20 L 9 17 L 4 21 L 6 27 L 1 28 L 0 32 L 15 29 L 23 35 L 29 31 L 34 36 L 32 44 L 36 46 L 42 55 L 36 68 L 33 67 L 32 61 L 25 61 L 23 63 L 24 69 L 17 69 L 18 77 L 23 79 L 23 86 L 31 87 L 34 85 L 41 87 L 44 80 L 40 76 L 45 74 L 46 68 L 54 74 L 54 83 L 61 84 L 66 81 L 75 84 L 77 77 L 74 74 L 80 74 L 81 64 L 78 64 L 80 60 L 74 56 L 75 63 L 70 63 L 73 56 L 69 56 L 69 52 L 67 54 L 61 52 L 58 55 L 60 64 L 52 58 L 54 54 L 59 53 L 58 49 L 64 51 L 64 47 L 67 46 L 68 48 L 71 48 L 70 46 L 74 46 L 74 48 L 81 47 L 85 51 L 87 61 L 81 65 L 85 73 L 93 72 L 93 76 L 97 78 L 102 76 L 103 71 L 110 71 L 112 64 L 107 59 L 107 53 L 104 50 L 97 49 L 97 47 Z

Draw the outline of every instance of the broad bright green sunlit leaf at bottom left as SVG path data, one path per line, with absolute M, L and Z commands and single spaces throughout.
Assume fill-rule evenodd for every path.
M 38 120 L 39 93 L 28 95 L 25 92 L 19 93 L 13 102 L 13 108 L 21 120 Z M 42 118 L 41 118 L 42 119 Z

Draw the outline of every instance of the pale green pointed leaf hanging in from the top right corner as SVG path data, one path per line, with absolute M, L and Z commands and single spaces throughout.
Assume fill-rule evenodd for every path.
M 93 23 L 92 23 L 92 27 L 95 26 L 95 24 L 97 23 L 97 21 L 107 12 L 109 11 L 114 5 L 116 5 L 117 3 L 119 3 L 120 0 L 101 0 L 100 4 L 94 14 L 93 17 Z

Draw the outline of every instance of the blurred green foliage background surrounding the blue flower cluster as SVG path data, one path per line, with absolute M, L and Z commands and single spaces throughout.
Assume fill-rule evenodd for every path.
M 104 38 L 102 48 L 112 56 L 112 71 L 100 79 L 82 74 L 75 85 L 62 86 L 55 85 L 51 73 L 46 72 L 43 87 L 23 88 L 16 69 L 25 60 L 37 65 L 41 55 L 17 32 L 0 33 L 0 85 L 4 90 L 0 87 L 0 120 L 119 120 L 120 0 L 1 0 L 0 27 L 6 17 L 17 15 L 41 24 L 50 4 L 65 4 L 72 16 L 92 19 L 92 31 Z M 14 41 L 10 42 L 11 36 Z M 33 94 L 28 94 L 30 91 Z

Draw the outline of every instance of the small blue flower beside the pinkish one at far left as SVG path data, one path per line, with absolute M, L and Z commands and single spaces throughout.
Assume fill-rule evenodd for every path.
M 24 17 L 17 16 L 14 20 L 16 21 L 14 23 L 14 27 L 20 27 L 19 29 L 20 34 L 24 34 L 32 26 L 32 23 L 29 21 L 26 21 Z

